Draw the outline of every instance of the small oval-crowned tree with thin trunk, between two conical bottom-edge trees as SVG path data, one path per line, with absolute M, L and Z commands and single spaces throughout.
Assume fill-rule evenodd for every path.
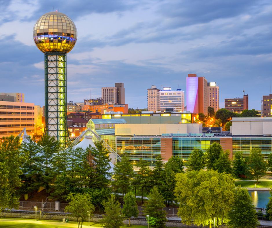
M 139 211 L 136 203 L 136 198 L 132 192 L 128 192 L 124 196 L 124 206 L 122 210 L 124 216 L 128 218 L 128 225 L 130 226 L 130 218 L 133 216 L 134 218 L 138 217 Z

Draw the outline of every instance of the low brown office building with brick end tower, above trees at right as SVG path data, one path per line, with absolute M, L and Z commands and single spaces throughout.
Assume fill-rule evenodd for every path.
M 244 94 L 243 98 L 226 98 L 225 109 L 235 113 L 241 113 L 243 110 L 247 110 L 248 95 Z

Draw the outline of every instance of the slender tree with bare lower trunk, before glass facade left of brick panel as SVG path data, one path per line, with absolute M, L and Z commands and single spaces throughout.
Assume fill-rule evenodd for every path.
M 148 193 L 150 189 L 150 175 L 151 170 L 148 166 L 148 161 L 143 160 L 142 158 L 139 159 L 137 163 L 137 168 L 139 168 L 136 176 L 135 176 L 135 195 L 136 195 L 136 188 L 139 187 L 141 191 L 141 201 L 144 203 L 144 194 Z

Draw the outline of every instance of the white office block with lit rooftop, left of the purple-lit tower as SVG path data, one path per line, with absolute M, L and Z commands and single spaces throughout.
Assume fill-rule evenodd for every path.
M 172 110 L 173 112 L 184 111 L 184 91 L 181 89 L 172 90 L 171 87 L 163 87 L 160 94 L 160 111 L 165 112 Z

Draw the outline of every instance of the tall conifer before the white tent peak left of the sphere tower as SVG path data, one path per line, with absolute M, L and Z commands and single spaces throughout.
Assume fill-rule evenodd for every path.
M 30 137 L 27 142 L 21 144 L 21 153 L 25 156 L 22 165 L 22 186 L 21 194 L 30 193 L 32 196 L 42 185 L 42 159 L 39 155 L 41 147 L 38 146 Z

